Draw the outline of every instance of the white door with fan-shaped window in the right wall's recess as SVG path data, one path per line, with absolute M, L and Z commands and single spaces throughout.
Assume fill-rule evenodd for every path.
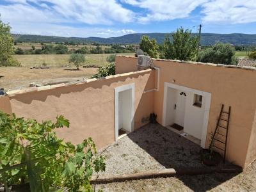
M 186 107 L 185 92 L 177 92 L 177 102 L 175 106 L 175 124 L 184 127 L 185 107 Z

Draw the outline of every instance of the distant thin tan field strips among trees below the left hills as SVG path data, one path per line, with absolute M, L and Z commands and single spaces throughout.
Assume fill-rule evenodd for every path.
M 41 49 L 42 45 L 40 43 L 17 43 L 17 45 L 15 45 L 15 48 L 21 48 L 23 50 L 30 50 L 32 45 L 35 46 L 35 49 Z M 47 44 L 47 45 L 56 45 L 56 44 Z M 82 47 L 87 47 L 89 50 L 92 48 L 95 48 L 95 45 L 67 45 L 68 50 L 72 51 L 72 50 L 77 50 L 80 49 Z M 104 50 L 106 48 L 110 48 L 110 46 L 106 46 L 106 45 L 100 45 L 100 47 Z

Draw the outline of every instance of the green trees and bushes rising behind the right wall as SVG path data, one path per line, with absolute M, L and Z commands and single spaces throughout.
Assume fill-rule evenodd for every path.
M 184 28 L 172 33 L 172 41 L 170 35 L 167 35 L 161 45 L 157 44 L 154 38 L 142 36 L 140 49 L 151 58 L 237 65 L 234 46 L 217 42 L 211 47 L 202 49 L 199 36 Z M 249 57 L 253 59 L 255 54 L 256 52 L 252 52 Z

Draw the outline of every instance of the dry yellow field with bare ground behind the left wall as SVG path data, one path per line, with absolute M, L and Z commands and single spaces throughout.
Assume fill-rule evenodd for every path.
M 124 54 L 134 55 L 134 54 Z M 98 68 L 76 67 L 68 63 L 70 54 L 33 54 L 15 55 L 22 67 L 0 67 L 0 88 L 14 90 L 28 87 L 30 83 L 47 84 L 67 81 L 77 81 L 90 78 L 97 73 Z M 86 54 L 86 62 L 83 65 L 93 64 L 97 66 L 107 65 L 106 58 L 109 54 Z M 49 69 L 30 69 L 30 67 L 42 66 L 46 63 Z

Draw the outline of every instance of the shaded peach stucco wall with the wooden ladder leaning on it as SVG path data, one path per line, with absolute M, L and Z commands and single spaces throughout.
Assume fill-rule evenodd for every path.
M 117 61 L 134 66 L 134 58 L 119 57 Z M 246 166 L 256 157 L 256 70 L 216 67 L 211 65 L 181 63 L 167 60 L 153 60 L 160 68 L 159 91 L 154 92 L 154 113 L 162 124 L 164 82 L 186 86 L 211 93 L 211 107 L 207 129 L 207 146 L 211 132 L 216 127 L 221 104 L 232 107 L 228 133 L 227 159 L 239 166 Z M 116 63 L 118 65 L 118 63 Z M 118 70 L 122 71 L 119 67 Z M 131 67 L 131 68 L 132 68 Z M 157 78 L 156 78 L 157 79 Z M 249 145 L 250 142 L 250 145 Z M 246 155 L 248 157 L 246 159 Z

